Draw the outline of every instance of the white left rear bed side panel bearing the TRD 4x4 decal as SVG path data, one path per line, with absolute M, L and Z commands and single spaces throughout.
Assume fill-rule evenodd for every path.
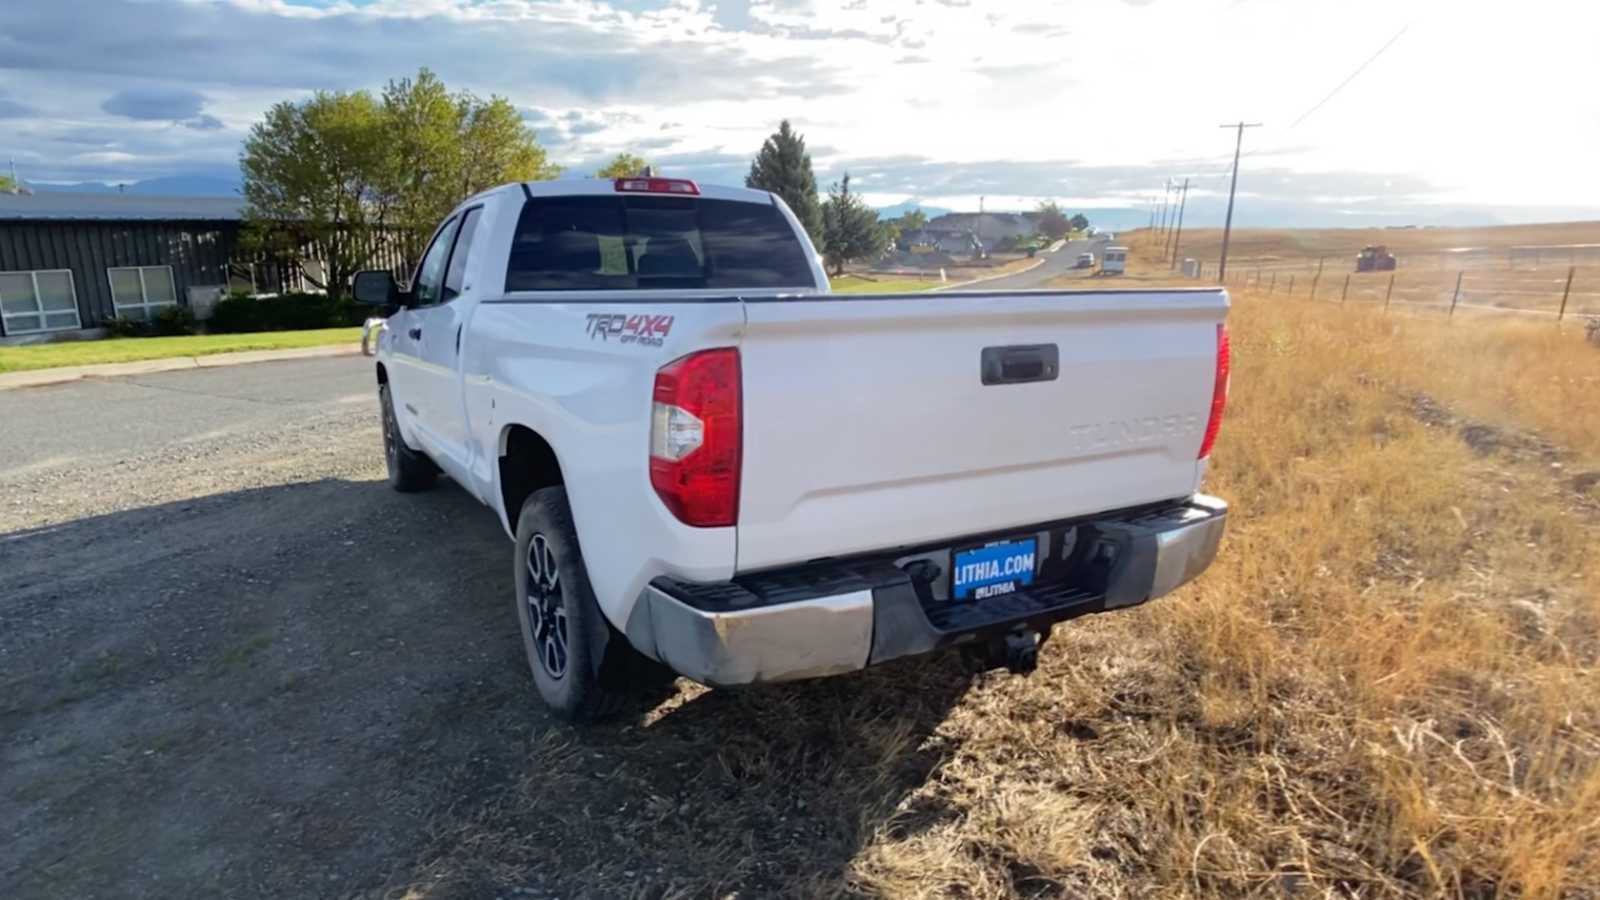
M 648 455 L 656 370 L 736 346 L 741 331 L 734 301 L 491 301 L 472 317 L 462 375 L 483 448 L 475 476 L 491 482 L 486 493 L 514 533 L 520 511 L 504 509 L 499 490 L 506 436 L 520 424 L 550 444 L 595 597 L 618 628 L 658 575 L 733 577 L 734 528 L 674 519 L 650 485 Z

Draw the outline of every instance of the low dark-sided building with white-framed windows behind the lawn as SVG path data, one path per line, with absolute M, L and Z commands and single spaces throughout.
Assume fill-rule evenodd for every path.
M 320 290 L 320 253 L 275 263 L 240 250 L 243 203 L 229 197 L 0 192 L 0 338 L 146 320 L 230 290 Z M 389 242 L 374 267 L 400 267 Z

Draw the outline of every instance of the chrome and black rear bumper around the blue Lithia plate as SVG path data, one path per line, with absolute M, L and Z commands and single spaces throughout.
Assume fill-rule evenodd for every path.
M 938 575 L 914 565 L 941 554 L 947 565 L 949 548 L 811 564 L 722 585 L 658 578 L 626 631 L 640 650 L 704 684 L 838 674 L 984 634 L 1144 604 L 1205 572 L 1226 525 L 1227 503 L 1206 495 L 1043 525 L 1038 533 L 1046 548 L 1046 535 L 1072 535 L 1072 544 L 1056 540 L 1067 577 L 963 604 L 936 597 Z

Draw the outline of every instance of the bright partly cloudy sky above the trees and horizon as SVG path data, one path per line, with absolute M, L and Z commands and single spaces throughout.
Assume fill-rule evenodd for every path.
M 634 151 L 738 183 L 789 117 L 882 205 L 1141 207 L 1189 176 L 1205 223 L 1246 117 L 1242 224 L 1600 218 L 1595 6 L 8 0 L 0 152 L 35 184 L 232 179 L 272 102 L 429 66 L 578 173 Z

